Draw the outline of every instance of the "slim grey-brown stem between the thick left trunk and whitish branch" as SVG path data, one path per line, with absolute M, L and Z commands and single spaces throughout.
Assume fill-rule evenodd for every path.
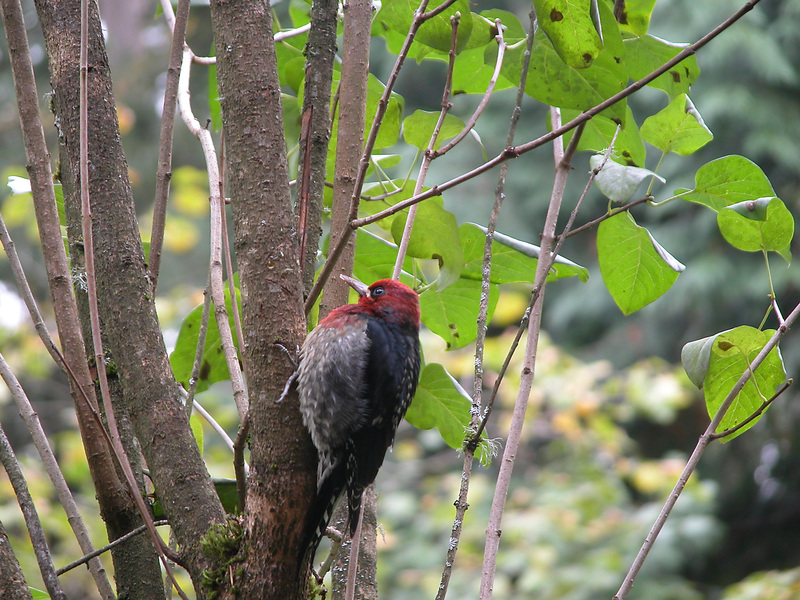
M 158 144 L 158 169 L 156 170 L 156 194 L 153 202 L 153 225 L 150 230 L 150 253 L 147 275 L 153 286 L 158 287 L 161 268 L 161 247 L 164 243 L 164 226 L 167 218 L 167 196 L 172 178 L 172 139 L 175 125 L 175 107 L 178 103 L 178 78 L 183 56 L 183 40 L 189 21 L 189 0 L 179 0 L 172 29 L 167 81 L 164 86 L 164 106 L 161 113 L 161 133 Z

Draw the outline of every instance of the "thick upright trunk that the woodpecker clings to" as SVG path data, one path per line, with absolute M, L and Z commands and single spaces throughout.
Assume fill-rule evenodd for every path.
M 213 0 L 211 17 L 250 394 L 247 576 L 238 587 L 243 598 L 300 599 L 316 454 L 296 395 L 275 402 L 306 324 L 272 18 L 264 0 Z

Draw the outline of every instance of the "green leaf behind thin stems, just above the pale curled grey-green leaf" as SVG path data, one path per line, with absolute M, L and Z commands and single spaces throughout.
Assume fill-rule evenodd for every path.
M 561 118 L 564 123 L 571 121 L 580 114 L 580 111 L 562 109 Z M 642 167 L 645 164 L 646 151 L 642 136 L 639 133 L 639 127 L 636 125 L 636 120 L 633 118 L 633 112 L 630 107 L 626 108 L 625 127 L 623 127 L 617 139 L 614 142 L 614 149 L 611 152 L 611 158 L 616 162 L 628 167 Z M 548 121 L 549 124 L 549 121 Z M 578 141 L 578 150 L 592 150 L 594 152 L 603 152 L 611 145 L 611 140 L 614 139 L 614 133 L 617 130 L 617 124 L 608 117 L 597 115 L 586 123 L 583 130 L 583 135 Z M 572 134 L 575 130 L 568 131 L 564 134 L 564 144 L 568 144 L 572 139 Z

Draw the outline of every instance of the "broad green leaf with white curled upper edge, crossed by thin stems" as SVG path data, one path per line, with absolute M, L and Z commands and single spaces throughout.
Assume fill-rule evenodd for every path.
M 483 250 L 486 244 L 486 229 L 473 223 L 459 227 L 464 247 L 464 270 L 461 277 L 480 281 L 483 272 Z M 492 283 L 533 283 L 539 247 L 495 232 L 492 241 Z M 556 257 L 548 281 L 577 276 L 581 281 L 589 279 L 589 270 L 562 256 Z

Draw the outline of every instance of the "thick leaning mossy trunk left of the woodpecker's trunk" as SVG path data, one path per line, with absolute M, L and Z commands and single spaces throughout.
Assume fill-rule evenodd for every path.
M 50 59 L 53 107 L 59 125 L 61 180 L 72 225 L 71 250 L 82 242 L 79 214 L 80 1 L 36 0 Z M 180 545 L 200 597 L 202 572 L 211 561 L 200 539 L 225 519 L 189 428 L 161 336 L 139 238 L 128 167 L 119 138 L 97 7 L 90 3 L 89 163 L 100 317 L 116 373 L 156 494 Z M 104 368 L 104 365 L 98 365 Z

